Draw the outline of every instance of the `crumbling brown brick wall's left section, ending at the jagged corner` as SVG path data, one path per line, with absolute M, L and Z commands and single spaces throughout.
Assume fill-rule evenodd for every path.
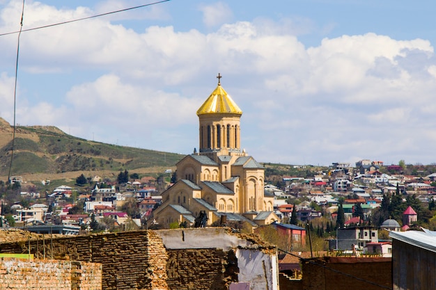
M 0 252 L 102 264 L 103 289 L 167 289 L 162 239 L 153 231 L 91 234 L 3 243 Z

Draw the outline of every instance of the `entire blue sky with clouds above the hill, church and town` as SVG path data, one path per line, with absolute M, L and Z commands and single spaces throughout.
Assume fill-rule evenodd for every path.
M 24 29 L 152 3 L 26 1 Z M 22 1 L 0 0 L 0 33 Z M 435 163 L 433 1 L 181 1 L 24 32 L 17 123 L 192 153 L 221 84 L 257 161 Z M 17 34 L 0 36 L 0 117 L 13 122 Z

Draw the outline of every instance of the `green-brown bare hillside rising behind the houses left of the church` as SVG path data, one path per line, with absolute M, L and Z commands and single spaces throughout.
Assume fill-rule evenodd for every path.
M 13 127 L 0 118 L 0 180 L 9 172 Z M 84 140 L 56 127 L 20 126 L 15 131 L 12 174 L 52 178 L 77 176 L 77 172 L 162 172 L 182 155 Z M 72 173 L 71 173 L 72 172 Z M 38 178 L 39 179 L 39 178 Z M 33 179 L 35 180 L 35 179 Z

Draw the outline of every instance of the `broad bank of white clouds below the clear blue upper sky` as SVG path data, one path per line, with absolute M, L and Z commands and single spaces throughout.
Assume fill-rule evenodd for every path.
M 117 5 L 107 1 L 98 10 Z M 210 33 L 173 26 L 148 26 L 139 33 L 105 18 L 24 33 L 20 68 L 29 76 L 19 81 L 20 122 L 190 153 L 198 143 L 196 109 L 221 72 L 221 83 L 244 111 L 242 147 L 258 161 L 329 164 L 356 156 L 435 161 L 428 153 L 436 136 L 430 42 L 367 33 L 325 38 L 306 48 L 293 22 L 229 23 L 217 12 L 228 16 L 227 8 L 203 6 L 208 25 L 224 23 Z M 17 10 L 13 4 L 1 10 L 2 30 L 13 29 L 7 15 Z M 38 14 L 27 20 L 33 26 L 92 11 L 33 2 L 31 13 Z M 0 41 L 8 61 L 16 38 Z M 39 92 L 47 99 L 32 102 L 32 74 L 49 78 L 53 72 L 61 83 L 52 85 L 65 86 L 65 94 L 51 95 L 47 88 Z M 0 100 L 7 106 L 10 75 L 0 74 Z M 11 116 L 3 106 L 0 113 Z

